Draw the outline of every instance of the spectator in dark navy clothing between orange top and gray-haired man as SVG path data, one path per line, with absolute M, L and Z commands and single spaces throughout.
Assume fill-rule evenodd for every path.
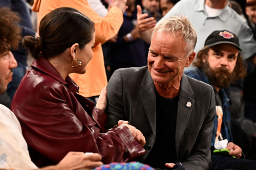
M 119 68 L 147 65 L 147 53 L 150 46 L 140 39 L 139 30 L 136 27 L 135 0 L 127 0 L 126 6 L 128 8 L 123 14 L 123 24 L 117 34 L 117 39 L 112 40 L 110 44 L 110 76 Z

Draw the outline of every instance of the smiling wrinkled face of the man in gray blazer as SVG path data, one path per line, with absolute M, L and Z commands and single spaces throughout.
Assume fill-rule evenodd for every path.
M 181 78 L 183 69 L 188 62 L 186 43 L 182 36 L 156 32 L 151 41 L 147 56 L 148 70 L 156 83 L 166 84 Z

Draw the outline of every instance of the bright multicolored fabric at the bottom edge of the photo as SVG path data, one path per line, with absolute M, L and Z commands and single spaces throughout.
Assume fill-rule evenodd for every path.
M 153 170 L 154 168 L 139 162 L 130 163 L 110 163 L 101 165 L 93 170 Z

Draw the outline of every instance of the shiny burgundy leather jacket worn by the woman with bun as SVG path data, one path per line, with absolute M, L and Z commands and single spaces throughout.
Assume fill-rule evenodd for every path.
M 47 59 L 41 57 L 31 67 L 11 110 L 37 166 L 56 164 L 70 151 L 99 153 L 103 163 L 125 162 L 145 153 L 127 127 L 105 132 L 105 113 L 77 94 L 75 82 L 69 76 L 64 80 Z

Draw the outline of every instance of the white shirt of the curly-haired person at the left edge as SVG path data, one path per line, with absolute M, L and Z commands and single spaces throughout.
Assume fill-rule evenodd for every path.
M 0 104 L 0 169 L 37 169 L 13 112 Z

